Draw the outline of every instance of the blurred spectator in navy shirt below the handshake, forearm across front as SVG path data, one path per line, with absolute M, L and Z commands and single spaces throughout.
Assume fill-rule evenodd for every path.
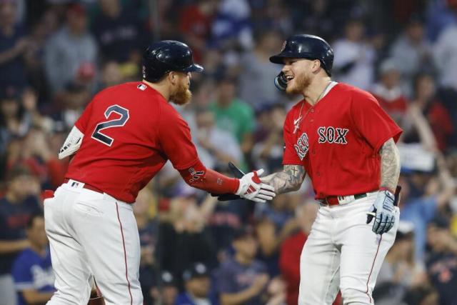
M 265 304 L 269 276 L 266 266 L 254 259 L 258 244 L 253 231 L 247 227 L 238 229 L 232 245 L 235 254 L 221 264 L 218 273 L 221 305 Z

